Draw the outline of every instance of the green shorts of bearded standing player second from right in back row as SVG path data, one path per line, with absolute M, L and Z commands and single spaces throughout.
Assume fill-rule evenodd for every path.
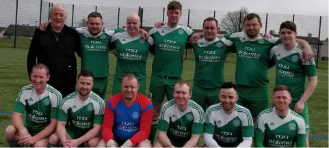
M 246 85 L 236 86 L 237 94 L 239 95 L 237 104 L 248 108 L 252 118 L 256 119 L 261 111 L 268 108 L 268 87 L 250 87 Z

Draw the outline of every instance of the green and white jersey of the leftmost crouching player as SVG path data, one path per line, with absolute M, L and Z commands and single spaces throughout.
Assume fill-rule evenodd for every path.
M 38 133 L 51 123 L 51 119 L 57 119 L 61 101 L 62 94 L 51 85 L 47 85 L 47 89 L 40 95 L 33 85 L 27 85 L 18 93 L 14 112 L 26 111 L 24 125 L 31 132 Z

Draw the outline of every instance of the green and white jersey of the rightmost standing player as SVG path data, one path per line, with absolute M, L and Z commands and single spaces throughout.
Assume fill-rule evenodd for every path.
M 311 60 L 300 59 L 302 55 L 302 46 L 296 43 L 295 48 L 286 50 L 283 44 L 274 46 L 271 50 L 271 61 L 276 63 L 276 84 L 286 85 L 291 89 L 293 101 L 291 105 L 295 105 L 306 88 L 306 76 L 317 76 L 314 58 Z

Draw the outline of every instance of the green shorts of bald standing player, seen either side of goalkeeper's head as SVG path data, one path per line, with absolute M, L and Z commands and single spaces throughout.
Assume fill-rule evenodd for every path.
M 115 95 L 116 93 L 121 93 L 121 83 L 122 83 L 121 79 L 114 78 L 111 96 Z M 138 80 L 138 83 L 140 84 L 138 93 L 142 93 L 143 95 L 146 95 L 146 78 L 142 80 Z

